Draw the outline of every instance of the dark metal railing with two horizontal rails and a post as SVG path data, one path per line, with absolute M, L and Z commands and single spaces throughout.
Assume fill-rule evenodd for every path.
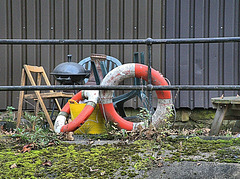
M 221 38 L 181 38 L 181 39 L 0 39 L 0 45 L 120 45 L 120 44 L 145 44 L 148 51 L 148 85 L 118 85 L 118 86 L 82 86 L 82 85 L 53 85 L 53 86 L 0 86 L 0 91 L 34 91 L 34 90 L 147 90 L 149 109 L 152 111 L 152 90 L 240 90 L 240 85 L 171 85 L 153 86 L 151 79 L 152 45 L 154 44 L 191 44 L 191 43 L 228 43 L 240 42 L 240 37 Z

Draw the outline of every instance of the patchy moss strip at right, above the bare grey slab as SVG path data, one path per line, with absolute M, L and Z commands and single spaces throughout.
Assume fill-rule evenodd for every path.
M 165 156 L 165 161 L 195 161 L 194 156 L 200 156 L 199 160 L 217 162 L 240 162 L 239 146 L 240 139 L 231 140 L 203 140 L 199 137 L 189 139 L 167 138 L 163 148 L 167 148 L 170 155 Z M 206 157 L 205 153 L 213 155 Z

